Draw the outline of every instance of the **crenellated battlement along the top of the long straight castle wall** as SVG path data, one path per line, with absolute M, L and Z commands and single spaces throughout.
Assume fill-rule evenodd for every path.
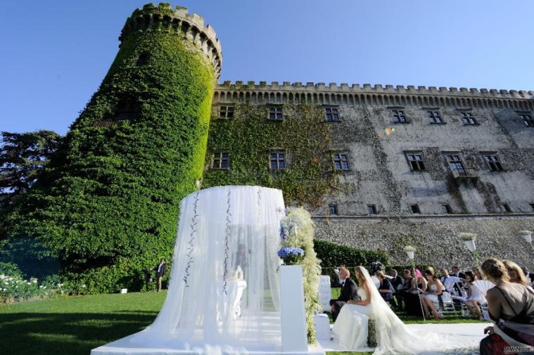
M 534 91 L 307 82 L 224 82 L 214 102 L 410 105 L 534 110 Z

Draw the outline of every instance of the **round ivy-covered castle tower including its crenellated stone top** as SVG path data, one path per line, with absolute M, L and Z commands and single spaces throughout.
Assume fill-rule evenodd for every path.
M 196 190 L 222 53 L 196 13 L 134 11 L 98 91 L 38 186 L 9 217 L 94 292 L 132 287 L 170 257 L 179 201 Z

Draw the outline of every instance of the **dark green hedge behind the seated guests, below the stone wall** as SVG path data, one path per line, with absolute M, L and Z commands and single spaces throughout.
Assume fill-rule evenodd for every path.
M 381 262 L 386 269 L 389 269 L 389 254 L 382 251 L 362 250 L 346 245 L 326 242 L 315 239 L 314 250 L 317 257 L 321 259 L 323 275 L 329 275 L 332 287 L 339 287 L 338 276 L 333 272 L 341 264 L 350 268 L 351 278 L 354 275 L 354 266 L 365 266 L 369 269 L 371 262 Z

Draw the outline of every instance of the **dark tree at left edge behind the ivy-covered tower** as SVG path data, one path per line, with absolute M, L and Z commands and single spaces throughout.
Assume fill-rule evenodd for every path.
M 32 187 L 60 142 L 54 131 L 1 132 L 0 205 Z

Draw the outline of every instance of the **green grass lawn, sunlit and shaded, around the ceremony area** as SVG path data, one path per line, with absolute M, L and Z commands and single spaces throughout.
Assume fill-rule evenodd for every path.
M 336 292 L 336 293 L 335 293 Z M 333 289 L 332 295 L 338 290 Z M 88 355 L 91 349 L 139 332 L 158 315 L 167 292 L 88 295 L 0 304 L 0 353 L 17 355 Z M 421 318 L 399 314 L 405 323 Z M 471 323 L 447 316 L 439 323 Z M 427 321 L 436 323 L 436 321 Z M 329 352 L 328 355 L 367 355 Z

